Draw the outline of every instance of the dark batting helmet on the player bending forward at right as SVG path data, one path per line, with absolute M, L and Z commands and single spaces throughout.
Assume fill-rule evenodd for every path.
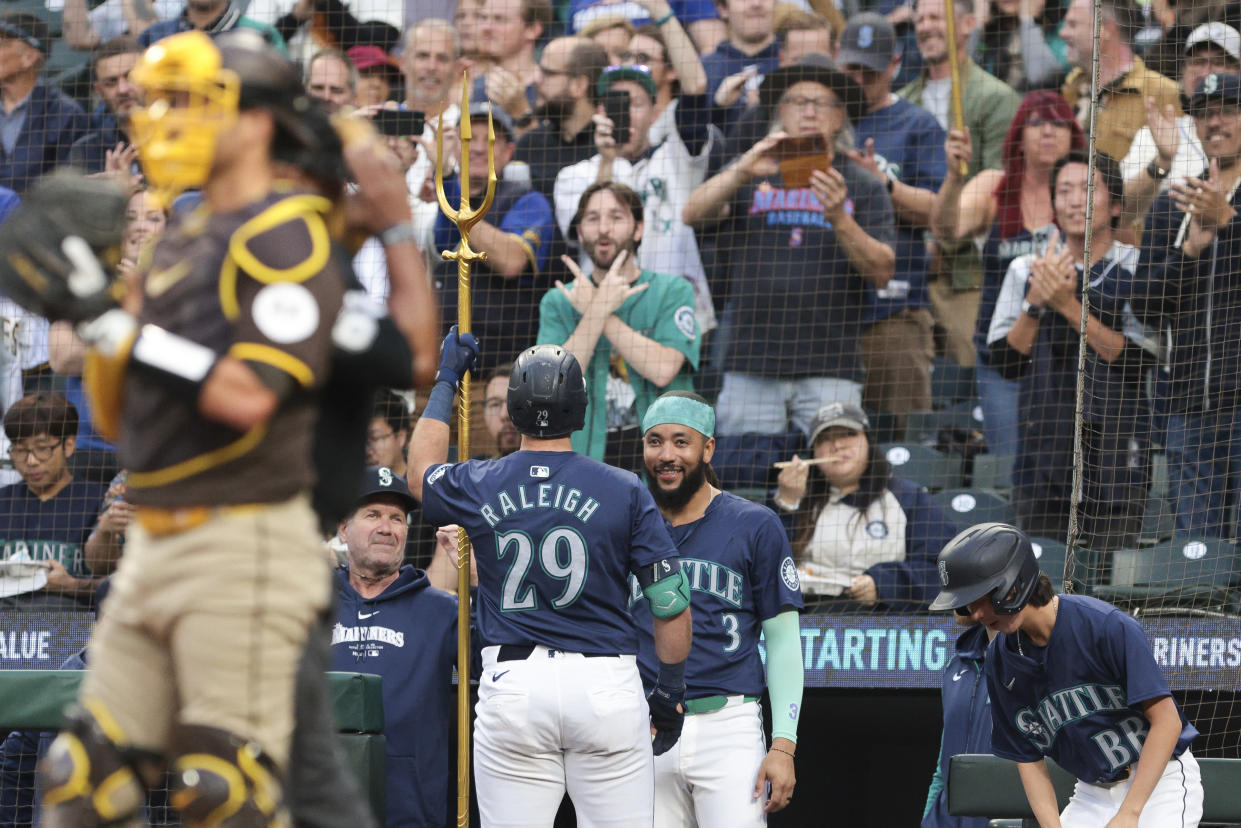
M 990 596 L 1001 616 L 1021 612 L 1041 574 L 1030 539 L 1008 524 L 970 526 L 944 545 L 938 566 L 943 590 L 932 610 L 958 610 Z

